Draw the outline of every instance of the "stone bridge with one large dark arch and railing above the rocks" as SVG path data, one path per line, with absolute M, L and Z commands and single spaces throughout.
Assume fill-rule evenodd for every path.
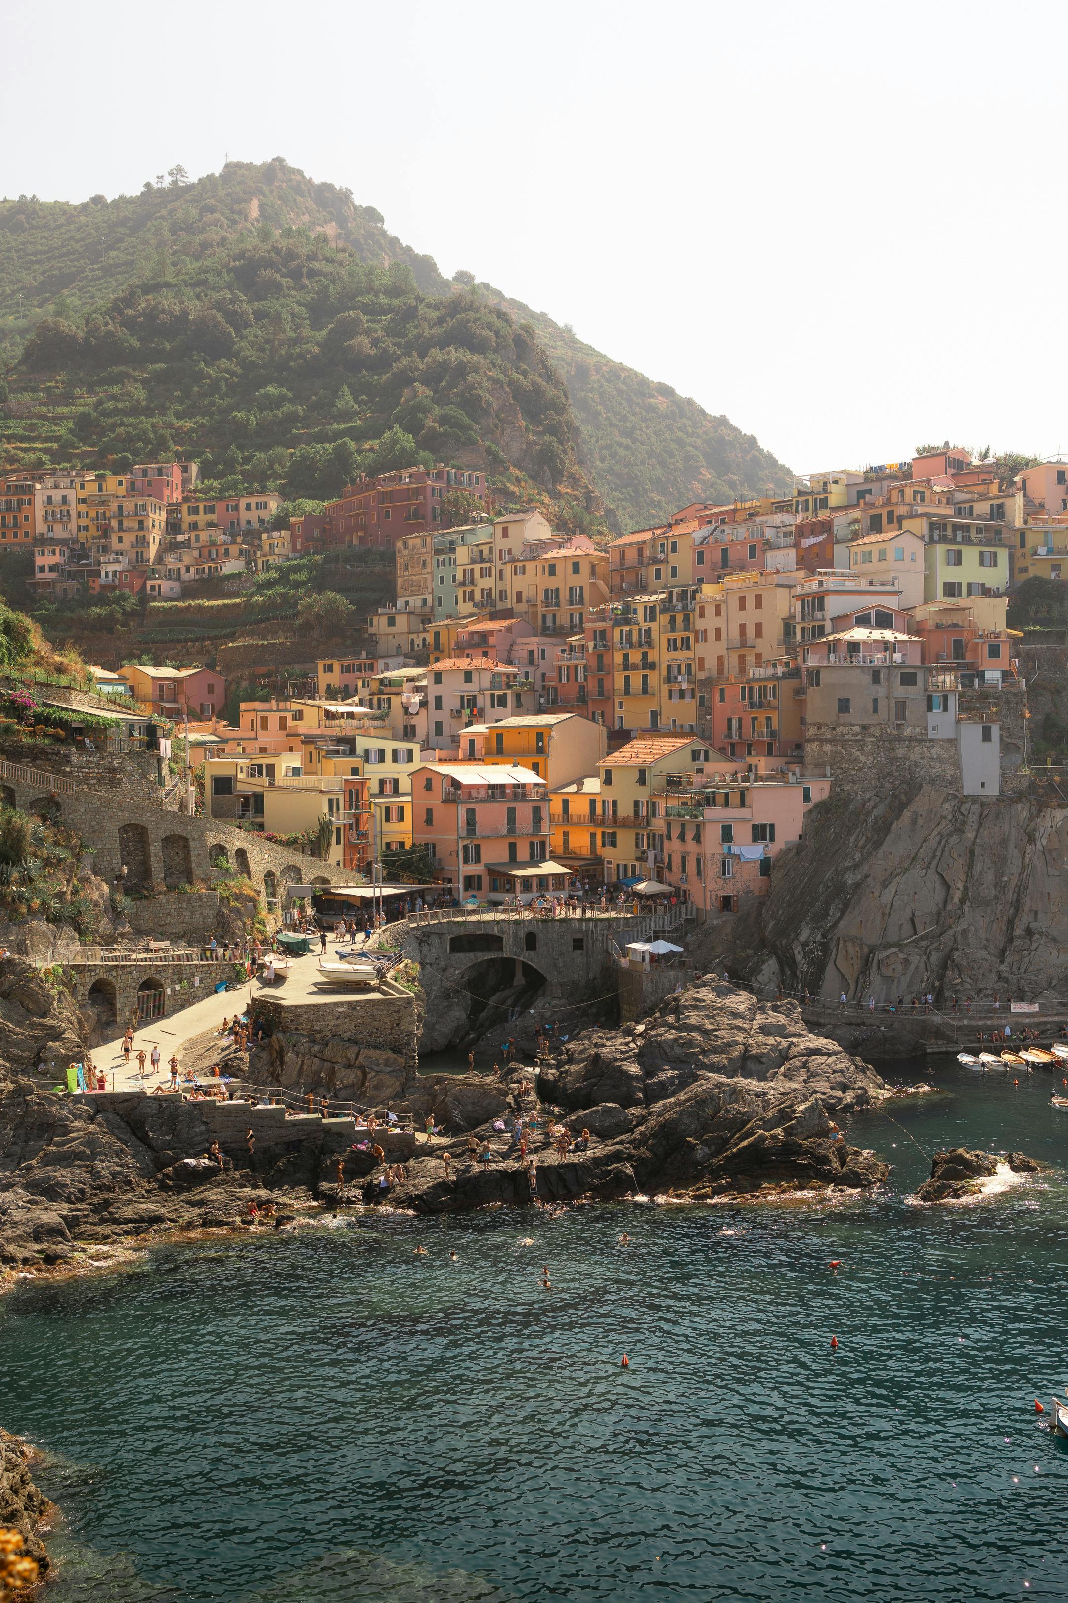
M 677 912 L 674 914 L 677 922 Z M 652 915 L 661 933 L 664 915 Z M 650 914 L 416 914 L 379 931 L 373 944 L 397 946 L 420 965 L 426 1018 L 420 1053 L 492 1044 L 514 1036 L 533 1044 L 538 1023 L 573 1034 L 615 1018 L 616 951 L 645 938 Z

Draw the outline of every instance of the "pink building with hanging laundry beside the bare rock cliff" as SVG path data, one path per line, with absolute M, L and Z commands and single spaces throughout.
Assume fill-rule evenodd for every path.
M 829 795 L 826 777 L 717 779 L 700 790 L 653 797 L 663 838 L 658 877 L 703 914 L 737 912 L 741 896 L 765 896 L 775 858 L 801 840 L 805 813 Z

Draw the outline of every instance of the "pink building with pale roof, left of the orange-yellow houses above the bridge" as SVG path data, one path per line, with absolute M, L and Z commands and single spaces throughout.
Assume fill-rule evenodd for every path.
M 412 773 L 412 843 L 426 846 L 456 896 L 503 894 L 517 870 L 535 880 L 565 874 L 548 867 L 549 834 L 549 792 L 528 768 L 424 763 Z

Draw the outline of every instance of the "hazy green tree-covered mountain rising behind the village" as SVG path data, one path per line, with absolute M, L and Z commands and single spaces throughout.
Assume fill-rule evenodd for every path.
M 0 202 L 6 364 L 6 463 L 176 449 L 221 489 L 322 497 L 415 450 L 591 529 L 602 508 L 637 527 L 789 484 L 727 418 L 469 274 L 450 284 L 280 157 L 115 200 Z

